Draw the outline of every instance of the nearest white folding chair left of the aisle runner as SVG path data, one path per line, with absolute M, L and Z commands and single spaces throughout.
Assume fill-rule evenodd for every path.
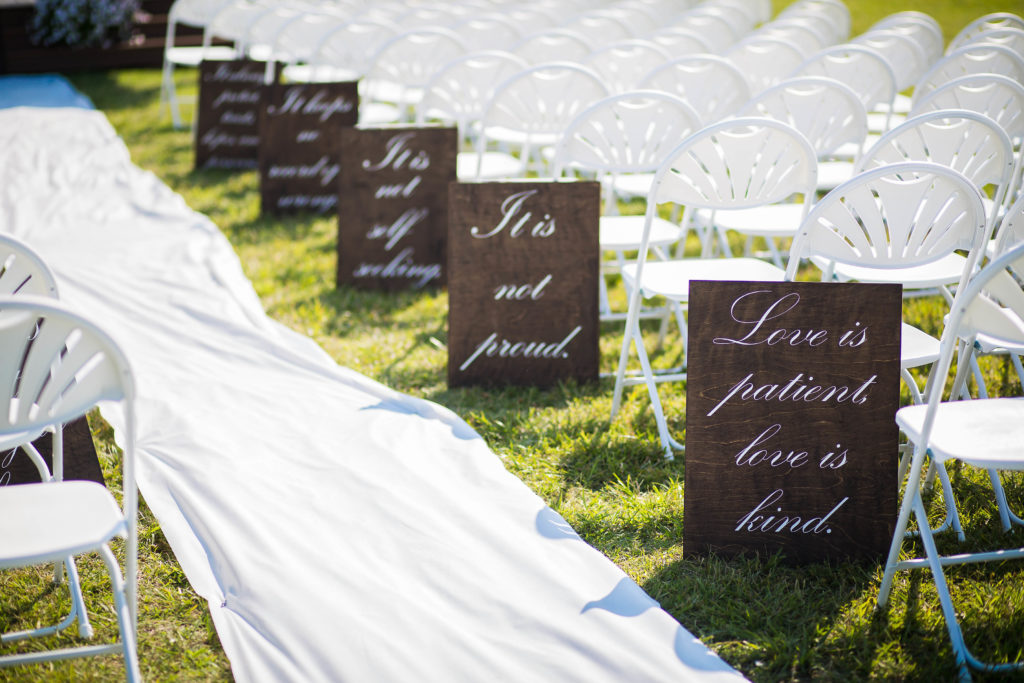
M 119 642 L 0 657 L 0 666 L 122 653 L 129 681 L 140 678 L 136 655 L 137 489 L 135 486 L 134 381 L 117 344 L 89 321 L 51 299 L 0 299 L 0 442 L 20 443 L 26 433 L 59 426 L 98 401 L 120 401 L 124 432 L 123 502 L 92 481 L 51 480 L 0 487 L 0 569 L 63 563 L 74 572 L 74 556 L 96 551 L 114 591 Z M 58 468 L 55 466 L 55 479 Z M 125 573 L 110 549 L 126 538 Z M 70 582 L 74 586 L 77 582 Z M 81 598 L 75 598 L 79 603 Z M 71 626 L 87 626 L 84 604 L 61 624 L 3 634 L 3 642 L 46 636 Z M 80 629 L 81 630 L 81 629 Z M 83 636 L 90 634 L 83 633 Z

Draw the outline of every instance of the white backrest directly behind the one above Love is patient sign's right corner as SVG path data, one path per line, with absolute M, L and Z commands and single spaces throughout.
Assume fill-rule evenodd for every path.
M 1002 127 L 967 110 L 938 110 L 906 120 L 871 145 L 854 172 L 908 161 L 948 166 L 980 189 L 994 185 L 990 226 L 995 224 L 1017 170 L 1014 145 Z

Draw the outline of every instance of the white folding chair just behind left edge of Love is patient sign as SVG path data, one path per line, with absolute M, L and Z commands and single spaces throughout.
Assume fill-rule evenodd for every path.
M 696 209 L 728 210 L 772 204 L 795 194 L 810 196 L 817 182 L 814 150 L 799 132 L 778 121 L 737 118 L 700 129 L 687 137 L 654 174 L 636 263 L 623 267 L 630 292 L 626 334 L 615 374 L 611 416 L 618 412 L 623 390 L 644 384 L 667 458 L 682 445 L 669 433 L 657 384 L 686 379 L 684 307 L 691 280 L 781 281 L 784 271 L 756 258 L 682 258 L 648 260 L 654 218 L 662 204 L 685 206 L 683 226 Z M 707 241 L 708 237 L 705 237 Z M 682 368 L 655 374 L 644 347 L 639 313 L 643 299 L 665 297 L 684 340 Z M 640 361 L 639 377 L 627 374 L 631 349 Z

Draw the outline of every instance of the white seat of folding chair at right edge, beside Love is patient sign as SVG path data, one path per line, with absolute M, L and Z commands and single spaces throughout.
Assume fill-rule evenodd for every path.
M 900 429 L 921 440 L 927 405 L 896 413 Z M 1008 425 L 1024 424 L 1024 398 L 977 398 L 941 403 L 935 416 L 929 453 L 939 461 L 957 458 L 982 468 L 1024 469 L 1020 441 L 1007 436 Z

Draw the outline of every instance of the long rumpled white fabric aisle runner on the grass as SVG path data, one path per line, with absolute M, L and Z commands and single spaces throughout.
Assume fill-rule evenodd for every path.
M 102 114 L 0 111 L 0 231 L 128 354 L 142 496 L 238 680 L 739 678 L 458 417 L 268 319 Z

